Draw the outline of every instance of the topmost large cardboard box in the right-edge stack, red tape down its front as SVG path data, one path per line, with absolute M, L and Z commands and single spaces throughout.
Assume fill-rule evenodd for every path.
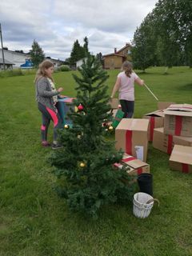
M 165 134 L 192 137 L 192 105 L 170 105 L 164 114 Z

